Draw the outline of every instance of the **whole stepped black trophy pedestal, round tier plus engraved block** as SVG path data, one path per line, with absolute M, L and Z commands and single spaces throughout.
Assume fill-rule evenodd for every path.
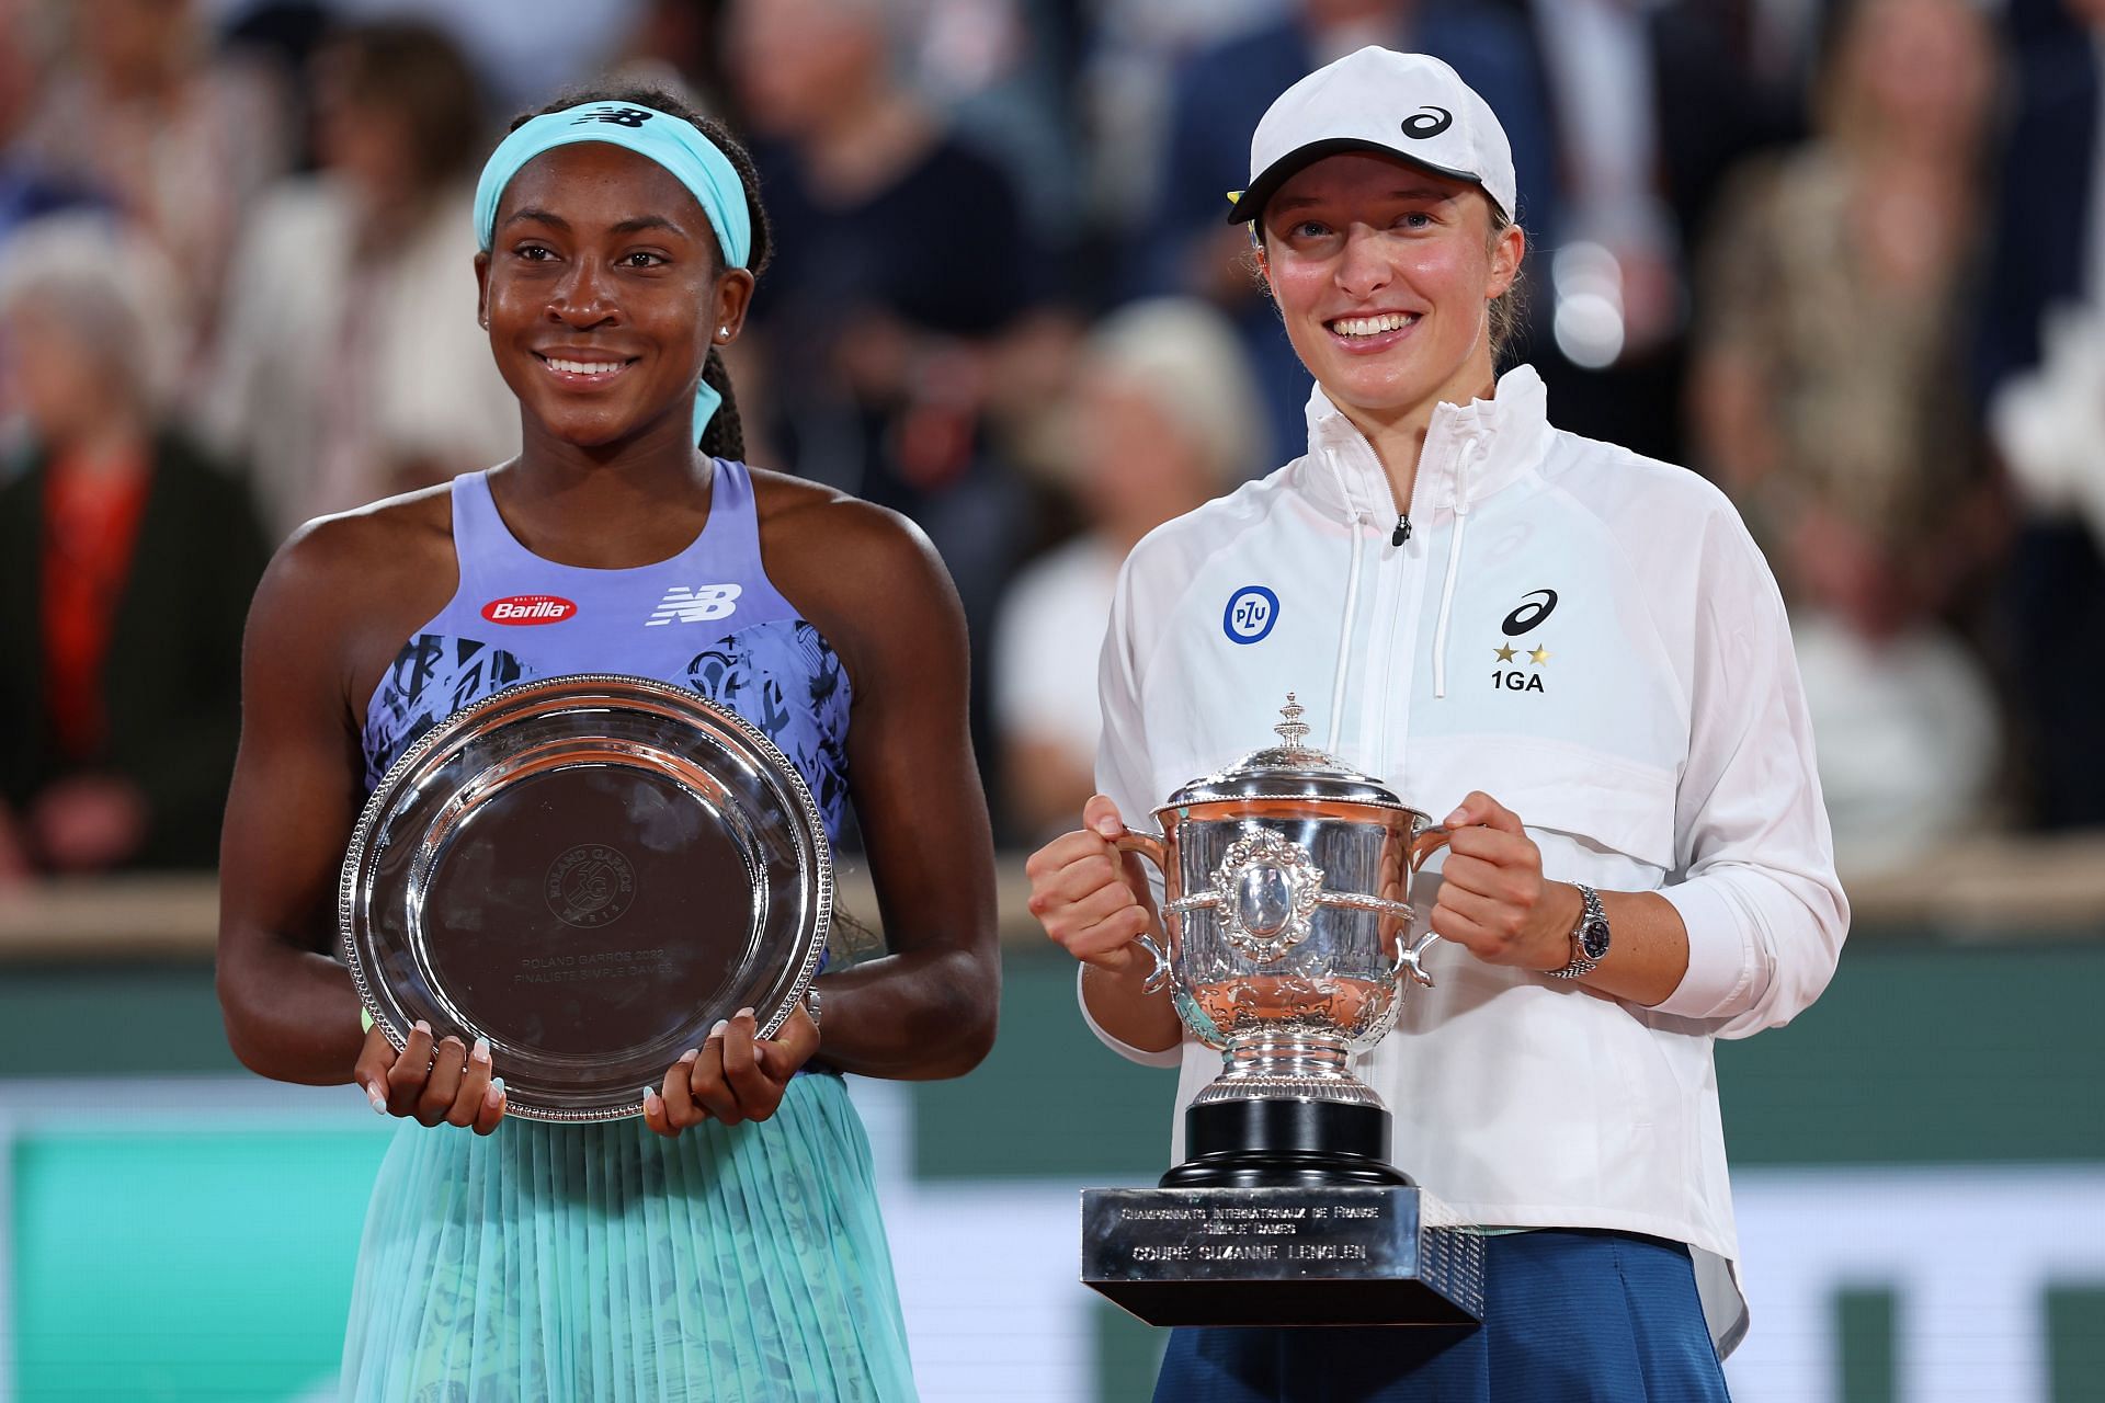
M 1082 1281 L 1149 1325 L 1476 1325 L 1484 1239 L 1387 1163 L 1389 1113 L 1223 1100 L 1160 1188 L 1082 1191 Z

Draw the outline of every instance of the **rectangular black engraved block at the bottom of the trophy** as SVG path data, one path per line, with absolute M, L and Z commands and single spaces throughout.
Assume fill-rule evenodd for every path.
M 1084 1188 L 1082 1283 L 1149 1325 L 1476 1325 L 1484 1237 L 1423 1188 Z

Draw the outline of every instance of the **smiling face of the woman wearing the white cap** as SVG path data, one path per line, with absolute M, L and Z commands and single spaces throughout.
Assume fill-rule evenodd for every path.
M 1295 172 L 1263 212 L 1265 278 L 1286 337 L 1362 427 L 1431 419 L 1490 391 L 1486 309 L 1520 273 L 1518 225 L 1490 231 L 1467 181 L 1368 154 Z

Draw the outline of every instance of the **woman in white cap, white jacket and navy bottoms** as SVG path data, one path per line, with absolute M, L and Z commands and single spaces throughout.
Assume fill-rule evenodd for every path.
M 1516 215 L 1497 116 L 1436 59 L 1364 48 L 1271 105 L 1231 219 L 1316 381 L 1309 448 L 1132 551 L 1103 793 L 1029 862 L 1086 1020 L 1179 1066 L 1183 1104 L 1221 1058 L 1151 991 L 1126 822 L 1263 743 L 1288 690 L 1322 751 L 1446 814 L 1419 919 L 1465 949 L 1434 947 L 1358 1075 L 1396 1163 L 1484 1226 L 1484 1325 L 1187 1327 L 1158 1399 L 1726 1397 L 1747 1315 L 1711 1043 L 1804 1010 L 1848 909 L 1732 507 L 1495 370 Z

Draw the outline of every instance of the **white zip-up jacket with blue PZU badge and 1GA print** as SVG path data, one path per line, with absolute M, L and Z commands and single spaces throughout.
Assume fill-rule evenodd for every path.
M 1661 892 L 1688 974 L 1640 1008 L 1434 944 L 1358 1073 L 1394 1163 L 1467 1220 L 1688 1243 L 1720 1353 L 1747 1327 L 1711 1041 L 1827 987 L 1848 904 L 1783 599 L 1732 505 L 1690 471 L 1553 429 L 1522 366 L 1442 404 L 1402 545 L 1366 438 L 1309 395 L 1309 450 L 1151 532 L 1103 644 L 1097 778 L 1126 822 L 1274 745 L 1309 745 L 1436 820 L 1482 789 L 1543 875 Z M 1412 888 L 1419 930 L 1440 858 Z M 1095 1024 L 1092 1024 L 1095 1026 Z M 1221 1071 L 1185 1035 L 1183 1106 Z

